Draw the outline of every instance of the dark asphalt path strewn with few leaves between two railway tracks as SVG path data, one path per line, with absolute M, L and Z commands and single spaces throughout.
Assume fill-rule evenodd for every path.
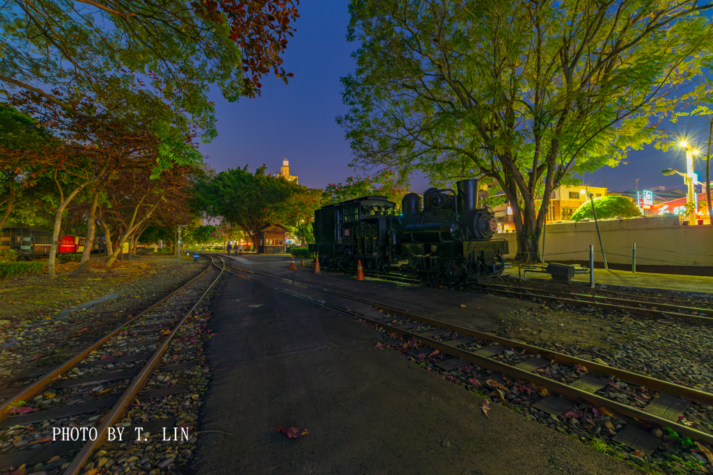
M 376 331 L 333 310 L 230 276 L 213 312 L 201 430 L 232 436 L 200 435 L 198 474 L 640 473 L 510 409 L 485 417 L 480 397 L 374 348 Z

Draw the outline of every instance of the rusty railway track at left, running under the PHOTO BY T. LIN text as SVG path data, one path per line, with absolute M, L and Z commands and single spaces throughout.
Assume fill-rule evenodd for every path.
M 16 394 L 3 394 L 7 399 L 0 406 L 0 436 L 15 447 L 9 446 L 9 442 L 3 444 L 0 472 L 25 466 L 23 474 L 39 468 L 48 475 L 79 474 L 93 468 L 92 456 L 97 459 L 96 451 L 107 442 L 110 431 L 117 437 L 119 429 L 129 429 L 130 434 L 123 434 L 124 442 L 126 437 L 130 442 L 137 437 L 145 437 L 144 442 L 149 442 L 151 434 L 155 439 L 157 422 L 165 424 L 169 419 L 152 421 L 144 414 L 146 427 L 143 432 L 134 433 L 133 429 L 141 424 L 133 424 L 132 418 L 125 416 L 142 411 L 153 401 L 171 403 L 173 397 L 190 392 L 191 387 L 178 381 L 189 377 L 194 368 L 200 370 L 195 355 L 201 351 L 196 339 L 202 337 L 190 339 L 179 332 L 202 334 L 200 327 L 205 328 L 204 320 L 199 315 L 190 321 L 188 318 L 222 275 L 220 266 L 217 272 L 213 269 L 211 259 L 211 264 L 191 281 L 61 365 L 16 375 L 16 379 L 24 379 L 26 384 L 19 392 L 17 388 L 3 391 Z M 167 361 L 165 355 L 169 350 L 171 357 Z M 38 404 L 41 410 L 25 409 Z M 193 400 L 182 404 L 188 406 Z M 134 414 L 133 422 L 137 417 Z M 99 458 L 97 464 L 103 461 L 100 471 L 112 466 L 130 471 L 142 465 L 150 468 L 149 457 L 145 459 L 126 454 L 123 459 Z

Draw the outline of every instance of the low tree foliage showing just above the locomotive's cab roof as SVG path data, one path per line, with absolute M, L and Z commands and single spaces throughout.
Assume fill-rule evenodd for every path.
M 329 184 L 324 189 L 324 197 L 328 203 L 339 203 L 349 199 L 367 197 L 379 194 L 401 207 L 401 199 L 409 192 L 406 184 L 399 182 L 396 173 L 390 169 L 382 170 L 366 177 L 349 177 L 344 184 Z

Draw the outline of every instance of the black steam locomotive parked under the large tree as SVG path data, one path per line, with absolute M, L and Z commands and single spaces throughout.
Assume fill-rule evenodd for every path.
M 496 221 L 491 209 L 478 207 L 478 180 L 456 188 L 457 194 L 431 188 L 423 199 L 406 194 L 401 214 L 381 196 L 329 204 L 314 212 L 309 249 L 326 268 L 356 268 L 357 261 L 372 272 L 398 266 L 405 275 L 448 285 L 503 273 L 508 241 L 492 239 Z

